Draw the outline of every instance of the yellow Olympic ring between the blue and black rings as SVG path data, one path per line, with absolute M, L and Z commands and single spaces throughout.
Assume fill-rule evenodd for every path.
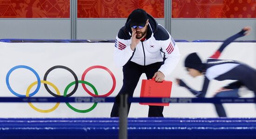
M 30 91 L 30 89 L 31 89 L 34 85 L 36 85 L 37 83 L 38 83 L 38 82 L 36 81 L 36 82 L 33 82 L 32 84 L 30 84 L 30 85 L 28 86 L 27 92 L 26 92 L 26 97 L 29 97 L 29 91 Z M 41 80 L 41 83 L 46 83 L 46 84 L 52 86 L 52 87 L 55 89 L 57 95 L 61 95 L 59 89 L 58 89 L 53 83 L 48 82 L 48 81 L 43 81 L 43 80 Z M 59 107 L 60 102 L 57 102 L 56 105 L 55 105 L 53 108 L 50 108 L 50 109 L 47 109 L 47 110 L 39 109 L 39 108 L 35 107 L 31 102 L 29 102 L 28 104 L 29 104 L 30 107 L 32 107 L 34 110 L 36 110 L 36 111 L 38 111 L 38 112 L 41 112 L 41 113 L 50 113 L 50 112 L 54 111 L 57 107 Z

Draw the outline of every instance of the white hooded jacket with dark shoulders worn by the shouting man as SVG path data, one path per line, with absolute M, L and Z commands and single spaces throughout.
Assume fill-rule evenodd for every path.
M 179 49 L 167 30 L 157 24 L 149 14 L 148 21 L 146 40 L 137 44 L 135 50 L 132 51 L 130 48 L 132 31 L 128 17 L 126 24 L 119 30 L 115 39 L 114 61 L 118 66 L 124 66 L 129 60 L 139 65 L 164 61 L 159 71 L 168 76 L 179 62 Z

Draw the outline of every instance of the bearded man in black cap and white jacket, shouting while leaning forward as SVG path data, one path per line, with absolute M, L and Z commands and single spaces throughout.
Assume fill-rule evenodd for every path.
M 179 59 L 179 49 L 166 29 L 144 10 L 134 10 L 115 39 L 114 61 L 123 67 L 123 86 L 118 95 L 132 97 L 142 73 L 162 82 Z M 114 103 L 111 117 L 119 116 L 118 107 Z M 163 106 L 149 106 L 148 117 L 163 117 L 162 112 Z

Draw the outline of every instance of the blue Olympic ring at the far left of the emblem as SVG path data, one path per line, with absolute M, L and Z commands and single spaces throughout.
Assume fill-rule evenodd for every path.
M 24 69 L 28 69 L 28 70 L 32 71 L 32 72 L 35 74 L 36 78 L 37 78 L 37 82 L 38 82 L 37 87 L 36 87 L 36 89 L 34 90 L 33 93 L 29 94 L 29 97 L 31 97 L 31 96 L 35 95 L 35 94 L 39 91 L 41 81 L 40 81 L 40 77 L 39 77 L 39 75 L 37 74 L 37 72 L 36 72 L 34 69 L 32 69 L 32 68 L 30 68 L 30 67 L 28 67 L 28 66 L 25 66 L 25 65 L 18 65 L 18 66 L 15 66 L 15 67 L 13 67 L 12 69 L 10 69 L 10 70 L 8 71 L 7 76 L 6 76 L 7 88 L 11 91 L 11 93 L 13 93 L 13 95 L 16 95 L 16 96 L 18 96 L 18 97 L 26 97 L 26 95 L 20 95 L 20 94 L 16 93 L 15 91 L 13 91 L 13 89 L 11 88 L 10 83 L 9 83 L 10 74 L 13 72 L 13 70 L 15 70 L 15 69 L 20 69 L 20 68 L 24 68 Z

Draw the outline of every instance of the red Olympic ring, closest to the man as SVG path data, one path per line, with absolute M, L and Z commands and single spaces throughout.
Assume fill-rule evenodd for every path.
M 107 97 L 108 95 L 111 95 L 111 94 L 114 92 L 114 90 L 115 90 L 115 85 L 116 85 L 116 81 L 115 81 L 115 76 L 114 76 L 114 74 L 113 74 L 108 68 L 106 68 L 106 67 L 104 67 L 104 66 L 99 66 L 99 65 L 91 66 L 91 67 L 89 67 L 88 69 L 86 69 L 86 70 L 83 72 L 82 78 L 81 78 L 82 81 L 85 81 L 85 80 L 84 80 L 85 75 L 86 75 L 86 74 L 88 73 L 88 71 L 90 71 L 91 69 L 105 69 L 106 71 L 108 71 L 108 73 L 109 73 L 110 76 L 112 77 L 113 86 L 112 86 L 111 90 L 110 90 L 107 94 L 105 94 L 105 95 L 95 95 L 95 94 L 93 94 L 92 92 L 90 92 L 90 91 L 86 88 L 85 84 L 82 84 L 82 87 L 84 88 L 84 90 L 85 90 L 89 95 L 94 96 L 94 97 Z

